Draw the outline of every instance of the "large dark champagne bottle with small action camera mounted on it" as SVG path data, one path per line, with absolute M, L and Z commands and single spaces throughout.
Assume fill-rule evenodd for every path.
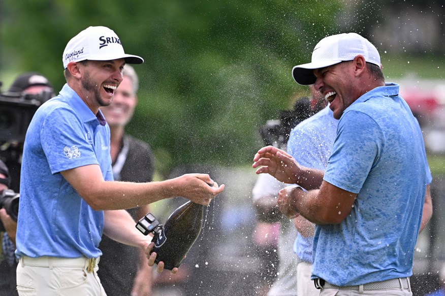
M 164 269 L 179 267 L 185 254 L 195 243 L 202 228 L 204 206 L 188 201 L 178 207 L 167 219 L 164 226 L 148 213 L 139 220 L 136 228 L 144 235 L 154 232 L 151 240 L 156 252 L 155 263 L 164 262 Z

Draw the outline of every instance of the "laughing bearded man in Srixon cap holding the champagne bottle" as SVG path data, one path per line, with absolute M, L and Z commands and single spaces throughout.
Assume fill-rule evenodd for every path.
M 121 209 L 176 196 L 208 205 L 224 185 L 207 174 L 113 181 L 110 129 L 99 107 L 111 103 L 124 64 L 143 59 L 125 54 L 116 33 L 99 26 L 71 39 L 62 60 L 67 84 L 37 110 L 24 142 L 17 289 L 19 295 L 106 295 L 97 276 L 102 234 L 144 249 L 151 266 L 156 256 L 149 254 L 150 238 Z

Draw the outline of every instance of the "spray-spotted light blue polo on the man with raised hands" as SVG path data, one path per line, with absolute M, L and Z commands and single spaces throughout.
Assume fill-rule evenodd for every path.
M 398 93 L 396 84 L 375 88 L 338 122 L 324 180 L 358 196 L 340 224 L 316 226 L 312 279 L 344 286 L 412 274 L 431 173 L 419 124 Z

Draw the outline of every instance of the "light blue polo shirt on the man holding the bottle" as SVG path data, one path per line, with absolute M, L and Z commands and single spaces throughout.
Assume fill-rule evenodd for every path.
M 67 84 L 36 112 L 26 132 L 16 255 L 97 257 L 103 211 L 93 210 L 61 171 L 98 164 L 113 180 L 110 129 Z

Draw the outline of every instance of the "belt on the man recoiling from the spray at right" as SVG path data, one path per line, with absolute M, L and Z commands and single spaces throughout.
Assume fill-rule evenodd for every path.
M 321 288 L 336 288 L 336 289 L 348 289 L 348 290 L 384 290 L 384 289 L 411 289 L 409 283 L 409 277 L 396 278 L 386 281 L 367 283 L 357 286 L 337 286 L 326 282 L 324 279 L 317 278 L 314 280 L 315 287 Z

